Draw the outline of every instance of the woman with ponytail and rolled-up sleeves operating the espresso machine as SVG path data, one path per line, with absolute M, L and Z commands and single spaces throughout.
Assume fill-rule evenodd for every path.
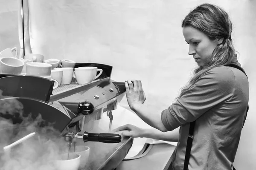
M 133 137 L 178 141 L 171 167 L 183 170 L 189 125 L 195 121 L 188 169 L 232 170 L 249 98 L 248 80 L 239 70 L 242 68 L 233 47 L 232 23 L 222 8 L 202 4 L 185 17 L 182 29 L 189 55 L 198 64 L 193 77 L 161 114 L 143 105 L 146 96 L 140 80 L 125 82 L 130 108 L 156 129 L 125 125 L 116 131 L 129 130 L 124 135 Z

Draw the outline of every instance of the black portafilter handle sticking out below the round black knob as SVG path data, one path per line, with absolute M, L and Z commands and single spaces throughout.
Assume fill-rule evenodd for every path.
M 84 132 L 84 142 L 94 141 L 103 143 L 119 143 L 122 140 L 122 136 L 115 133 L 87 133 Z

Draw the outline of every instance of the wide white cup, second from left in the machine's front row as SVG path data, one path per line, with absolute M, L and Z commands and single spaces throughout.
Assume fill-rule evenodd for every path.
M 26 75 L 46 77 L 51 76 L 52 65 L 41 62 L 27 62 Z

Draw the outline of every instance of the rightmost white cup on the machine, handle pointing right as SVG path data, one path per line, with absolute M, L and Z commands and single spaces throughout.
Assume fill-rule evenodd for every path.
M 97 72 L 99 71 L 99 74 Z M 73 71 L 73 77 L 79 85 L 90 83 L 102 74 L 102 69 L 97 67 L 79 67 Z

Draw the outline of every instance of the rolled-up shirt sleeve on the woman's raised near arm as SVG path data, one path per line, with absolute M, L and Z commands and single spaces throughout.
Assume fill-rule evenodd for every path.
M 175 103 L 163 110 L 161 119 L 168 130 L 195 121 L 205 112 L 232 99 L 235 78 L 230 69 L 213 68 L 187 90 Z

